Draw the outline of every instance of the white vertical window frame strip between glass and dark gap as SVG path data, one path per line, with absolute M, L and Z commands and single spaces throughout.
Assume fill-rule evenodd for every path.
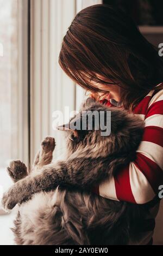
M 18 158 L 29 163 L 28 0 L 18 0 Z M 11 138 L 12 140 L 12 138 Z M 12 141 L 11 141 L 12 142 Z M 15 150 L 15 145 L 12 146 Z

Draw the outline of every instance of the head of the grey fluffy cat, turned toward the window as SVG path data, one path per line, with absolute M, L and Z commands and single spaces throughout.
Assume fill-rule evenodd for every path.
M 65 131 L 68 152 L 106 157 L 136 151 L 143 122 L 125 110 L 108 108 L 88 98 L 79 114 L 57 128 Z

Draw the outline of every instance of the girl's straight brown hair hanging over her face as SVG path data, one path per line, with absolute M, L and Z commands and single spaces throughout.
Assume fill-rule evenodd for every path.
M 87 7 L 74 17 L 62 41 L 59 64 L 86 90 L 106 92 L 93 86 L 91 80 L 122 87 L 125 109 L 133 109 L 163 82 L 158 51 L 127 14 L 105 4 Z

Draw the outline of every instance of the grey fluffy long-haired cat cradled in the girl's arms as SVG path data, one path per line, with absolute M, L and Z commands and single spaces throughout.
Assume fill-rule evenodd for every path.
M 18 245 L 127 245 L 141 239 L 146 206 L 105 199 L 91 190 L 135 159 L 143 122 L 91 98 L 82 110 L 110 110 L 111 134 L 66 129 L 65 160 L 51 163 L 55 140 L 47 137 L 30 173 L 20 161 L 8 168 L 15 184 L 2 203 L 6 210 L 19 204 L 12 229 Z M 82 122 L 81 112 L 75 118 Z

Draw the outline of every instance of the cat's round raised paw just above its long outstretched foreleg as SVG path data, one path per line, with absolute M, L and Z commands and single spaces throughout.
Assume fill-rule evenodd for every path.
M 26 165 L 20 160 L 10 162 L 7 170 L 14 182 L 17 182 L 28 175 Z

